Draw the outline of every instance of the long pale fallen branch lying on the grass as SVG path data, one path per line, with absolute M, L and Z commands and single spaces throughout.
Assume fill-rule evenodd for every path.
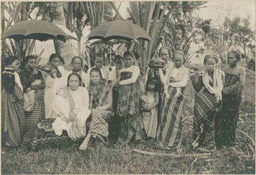
M 174 158 L 180 158 L 180 157 L 203 157 L 203 156 L 211 156 L 211 153 L 199 153 L 199 154 L 184 154 L 184 155 L 179 155 L 179 154 L 166 154 L 166 153 L 154 153 L 154 152 L 147 152 L 147 151 L 141 151 L 138 149 L 131 149 L 134 152 L 145 154 L 145 155 L 150 155 L 150 156 L 170 156 Z

